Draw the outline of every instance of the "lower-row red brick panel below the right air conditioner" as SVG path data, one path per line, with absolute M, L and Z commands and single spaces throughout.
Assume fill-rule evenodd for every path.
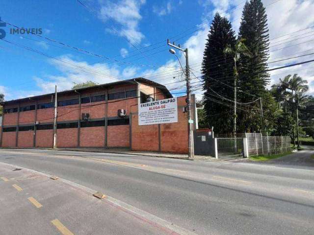
M 130 146 L 130 126 L 108 126 L 107 127 L 108 147 L 129 147 Z

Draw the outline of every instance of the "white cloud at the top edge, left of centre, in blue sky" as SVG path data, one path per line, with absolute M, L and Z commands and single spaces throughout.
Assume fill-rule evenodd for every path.
M 115 29 L 110 28 L 112 31 L 116 31 L 120 36 L 126 37 L 129 41 L 138 43 L 145 37 L 139 31 L 139 21 L 142 19 L 140 15 L 140 7 L 145 3 L 145 0 L 120 0 L 117 3 L 105 1 L 101 5 L 100 18 L 104 22 L 113 20 L 121 27 Z M 109 22 L 109 24 L 111 24 Z M 111 32 L 112 32 L 111 31 Z

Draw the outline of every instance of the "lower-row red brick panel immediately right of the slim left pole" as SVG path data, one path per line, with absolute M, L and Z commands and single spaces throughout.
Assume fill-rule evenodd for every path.
M 57 129 L 57 147 L 77 147 L 78 128 Z

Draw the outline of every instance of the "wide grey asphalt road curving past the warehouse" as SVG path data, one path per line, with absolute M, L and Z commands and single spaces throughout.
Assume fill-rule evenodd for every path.
M 313 235 L 314 231 L 311 166 L 16 149 L 1 149 L 0 162 L 104 192 L 200 235 Z

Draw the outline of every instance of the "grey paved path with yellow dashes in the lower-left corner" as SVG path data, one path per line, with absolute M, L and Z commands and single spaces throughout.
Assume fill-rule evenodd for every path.
M 0 163 L 0 234 L 195 235 L 64 179 Z M 105 188 L 104 188 L 105 192 Z

